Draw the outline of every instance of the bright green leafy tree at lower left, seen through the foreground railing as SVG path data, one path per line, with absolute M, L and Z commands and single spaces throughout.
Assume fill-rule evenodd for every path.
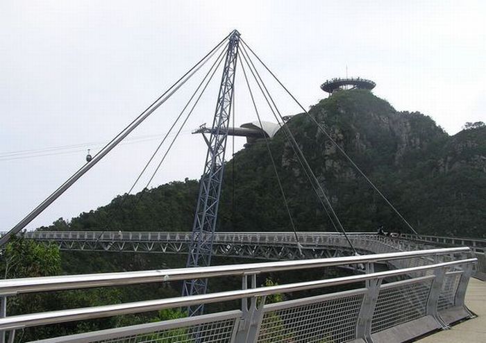
M 0 271 L 5 278 L 59 275 L 61 273 L 61 260 L 58 246 L 26 240 L 22 236 L 12 237 L 1 256 Z M 119 290 L 113 288 L 27 293 L 8 297 L 7 314 L 10 316 L 23 315 L 119 302 Z M 15 337 L 15 341 L 39 340 L 72 333 L 94 331 L 115 325 L 116 318 L 108 318 L 49 326 L 36 326 L 19 331 Z

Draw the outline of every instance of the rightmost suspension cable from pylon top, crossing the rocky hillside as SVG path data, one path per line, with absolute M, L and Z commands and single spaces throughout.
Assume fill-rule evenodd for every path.
M 401 215 L 401 213 L 399 212 L 399 210 L 397 210 L 395 208 L 395 206 L 393 206 L 393 204 L 387 199 L 387 197 L 385 196 L 385 194 L 383 194 L 382 192 L 380 192 L 380 190 L 378 190 L 378 187 L 376 187 L 376 185 L 366 176 L 366 174 L 364 174 L 364 172 L 360 169 L 360 167 L 358 167 L 358 165 L 355 164 L 355 162 L 351 159 L 351 157 L 349 157 L 349 155 L 346 153 L 346 151 L 344 151 L 344 149 L 342 149 L 342 147 L 339 144 L 337 144 L 337 142 L 335 140 L 333 140 L 333 137 L 331 137 L 329 135 L 329 133 L 326 131 L 326 129 L 324 129 L 324 127 L 321 124 L 319 124 L 319 122 L 317 122 L 317 119 L 315 119 L 315 117 L 312 117 L 312 115 L 310 115 L 309 112 L 307 110 L 305 110 L 305 108 L 301 105 L 301 103 L 294 97 L 294 95 L 287 89 L 287 87 L 285 87 L 285 85 L 283 85 L 283 83 L 280 82 L 280 80 L 276 77 L 276 75 L 273 72 L 271 72 L 271 70 L 269 69 L 269 67 L 267 67 L 267 65 L 265 65 L 265 63 L 256 55 L 256 53 L 251 49 L 251 47 L 249 47 L 249 45 L 246 44 L 246 42 L 244 42 L 244 40 L 242 40 L 242 42 L 243 42 L 244 46 L 246 46 L 251 51 L 251 53 L 253 53 L 253 56 L 255 56 L 255 58 L 258 59 L 258 61 L 262 64 L 262 66 L 265 67 L 265 69 L 267 69 L 267 72 L 269 72 L 269 74 L 271 74 L 271 76 L 273 76 L 275 78 L 275 80 L 278 82 L 278 84 L 283 87 L 283 89 L 285 90 L 285 92 L 287 92 L 287 94 L 290 95 L 290 97 L 297 103 L 297 105 L 299 105 L 299 107 L 305 112 L 305 114 L 308 115 L 308 117 L 310 117 L 310 119 L 312 120 L 312 122 L 314 122 L 314 124 L 317 125 L 317 127 L 319 128 L 319 130 L 322 133 L 324 133 L 324 135 L 326 135 L 326 137 L 328 138 L 328 140 L 330 140 L 330 142 L 332 142 L 335 145 L 335 147 L 351 163 L 351 165 L 353 165 L 353 167 L 355 167 L 355 169 L 361 174 L 361 176 L 364 178 L 364 180 L 366 180 L 369 183 L 369 185 L 371 185 L 371 187 L 373 187 L 373 189 L 378 194 L 380 194 L 380 196 L 382 197 L 382 199 L 392 208 L 392 210 L 394 210 L 394 212 L 396 213 L 396 215 L 398 215 L 403 220 L 403 222 L 405 222 L 405 224 L 408 226 L 408 228 L 410 228 L 410 230 L 415 235 L 417 235 L 417 231 L 415 231 L 415 229 L 412 227 L 412 225 L 410 225 L 410 223 L 405 219 L 405 217 L 403 217 L 403 215 Z

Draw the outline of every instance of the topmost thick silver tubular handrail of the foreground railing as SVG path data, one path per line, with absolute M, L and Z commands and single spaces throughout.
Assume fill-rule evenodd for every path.
M 358 265 L 367 262 L 383 262 L 405 258 L 419 258 L 448 253 L 470 253 L 467 247 L 403 251 L 399 253 L 379 253 L 374 255 L 346 256 L 339 258 L 318 258 L 312 260 L 293 260 L 278 262 L 246 263 L 240 265 L 221 265 L 211 267 L 160 269 L 148 271 L 125 271 L 119 273 L 81 274 L 67 276 L 47 276 L 40 278 L 16 278 L 0 280 L 0 295 L 13 295 L 51 290 L 71 290 L 86 287 L 106 287 L 133 285 L 161 281 L 181 281 L 194 278 L 235 276 L 244 274 L 267 273 L 310 269 L 316 267 L 335 267 Z

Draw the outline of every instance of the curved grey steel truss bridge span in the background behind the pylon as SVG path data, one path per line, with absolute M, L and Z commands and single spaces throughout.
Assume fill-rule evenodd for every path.
M 212 235 L 212 255 L 262 260 L 295 260 L 349 256 L 353 253 L 344 237 L 332 232 L 298 233 L 303 256 L 294 233 L 204 233 Z M 203 235 L 204 235 L 203 234 Z M 398 240 L 376 233 L 349 233 L 360 253 L 385 253 L 426 249 L 427 244 Z M 187 253 L 189 232 L 34 231 L 25 234 L 37 242 L 56 243 L 62 250 Z

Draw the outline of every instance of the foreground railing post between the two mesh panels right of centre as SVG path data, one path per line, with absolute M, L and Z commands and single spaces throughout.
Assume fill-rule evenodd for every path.
M 367 263 L 367 273 L 374 271 L 374 265 Z M 378 295 L 380 294 L 381 278 L 372 279 L 366 281 L 366 287 L 368 292 L 364 294 L 360 314 L 358 315 L 358 321 L 356 322 L 356 339 L 362 339 L 364 342 L 373 343 L 371 339 L 371 321 L 373 320 L 373 314 L 376 308 L 376 302 L 378 301 Z

